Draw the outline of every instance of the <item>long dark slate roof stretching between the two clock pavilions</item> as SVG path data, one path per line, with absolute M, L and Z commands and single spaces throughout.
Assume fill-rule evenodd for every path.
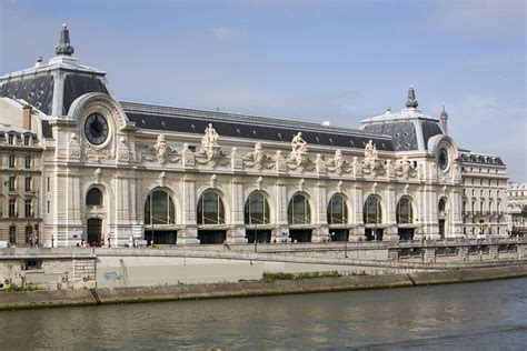
M 309 144 L 364 149 L 374 140 L 378 150 L 394 151 L 391 138 L 361 130 L 325 127 L 253 116 L 120 102 L 128 119 L 138 128 L 202 134 L 212 123 L 220 136 L 290 142 L 302 132 Z

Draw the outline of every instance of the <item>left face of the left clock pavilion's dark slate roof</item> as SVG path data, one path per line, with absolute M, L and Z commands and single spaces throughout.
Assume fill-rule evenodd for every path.
M 51 113 L 53 102 L 53 76 L 28 76 L 12 79 L 0 87 L 0 97 L 23 99 L 46 114 Z

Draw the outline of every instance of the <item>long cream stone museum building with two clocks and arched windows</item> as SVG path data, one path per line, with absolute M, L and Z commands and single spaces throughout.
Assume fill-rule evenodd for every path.
M 6 208 L 24 195 L 2 190 L 0 240 L 116 247 L 131 237 L 206 244 L 506 234 L 501 159 L 460 149 L 445 109 L 425 114 L 411 87 L 402 110 L 355 130 L 118 101 L 106 72 L 72 54 L 63 26 L 48 63 L 0 77 L 2 187 L 14 174 L 4 167 L 10 154 L 29 154 L 10 136 L 30 136 L 38 184 L 27 197 L 40 224 L 21 234 L 33 220 Z

